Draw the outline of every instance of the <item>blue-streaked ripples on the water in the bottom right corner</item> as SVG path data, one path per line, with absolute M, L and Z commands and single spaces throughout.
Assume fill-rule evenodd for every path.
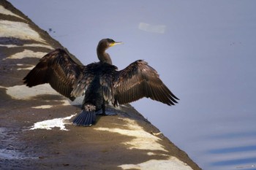
M 211 157 L 208 166 L 210 169 L 256 169 L 255 138 L 256 131 L 211 136 L 209 139 L 218 147 L 206 151 Z

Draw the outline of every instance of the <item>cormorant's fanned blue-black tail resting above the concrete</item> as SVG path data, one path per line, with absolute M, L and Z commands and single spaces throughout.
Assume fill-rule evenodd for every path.
M 80 125 L 80 126 L 91 126 L 95 123 L 96 120 L 96 113 L 95 111 L 83 111 L 75 117 L 73 120 L 73 125 Z

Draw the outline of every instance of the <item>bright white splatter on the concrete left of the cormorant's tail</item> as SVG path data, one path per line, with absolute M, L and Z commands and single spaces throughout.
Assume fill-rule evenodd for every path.
M 29 130 L 36 130 L 36 129 L 52 130 L 53 128 L 60 128 L 61 131 L 68 131 L 65 125 L 70 123 L 67 120 L 71 119 L 75 115 L 37 122 L 37 123 L 34 123 L 34 125 Z

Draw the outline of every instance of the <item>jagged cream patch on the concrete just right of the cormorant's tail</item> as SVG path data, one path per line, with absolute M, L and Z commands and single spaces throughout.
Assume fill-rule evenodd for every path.
M 121 129 L 121 128 L 94 128 L 98 131 L 110 131 L 113 133 L 118 133 L 126 136 L 132 136 L 135 139 L 131 141 L 124 142 L 128 147 L 128 149 L 138 149 L 138 150 L 165 150 L 165 147 L 158 142 L 162 139 L 159 139 L 157 136 L 149 134 L 144 131 L 143 128 L 138 125 L 135 120 L 129 120 L 128 118 L 122 118 L 127 121 L 127 128 L 129 129 Z

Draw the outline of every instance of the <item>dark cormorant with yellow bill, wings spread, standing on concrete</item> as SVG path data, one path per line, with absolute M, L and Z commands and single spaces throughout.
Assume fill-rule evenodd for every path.
M 135 61 L 118 71 L 112 65 L 108 47 L 121 44 L 113 39 L 102 39 L 97 46 L 99 62 L 81 66 L 65 50 L 56 49 L 39 60 L 37 66 L 24 77 L 24 83 L 32 87 L 49 83 L 50 86 L 75 100 L 85 95 L 82 112 L 73 120 L 74 125 L 90 126 L 95 123 L 96 113 L 105 102 L 115 107 L 147 97 L 167 105 L 174 105 L 178 98 L 159 79 L 159 74 L 145 61 Z

